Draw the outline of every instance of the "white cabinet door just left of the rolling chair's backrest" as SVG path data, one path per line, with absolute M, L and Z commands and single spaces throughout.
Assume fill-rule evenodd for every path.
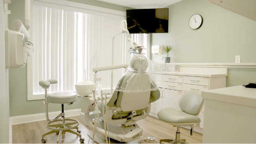
M 165 89 L 163 88 L 163 101 L 162 101 L 162 108 L 166 108 L 166 107 L 172 107 L 174 109 L 178 109 L 179 108 L 179 97 L 182 94 L 182 91 L 176 91 L 176 90 L 169 90 L 169 89 Z

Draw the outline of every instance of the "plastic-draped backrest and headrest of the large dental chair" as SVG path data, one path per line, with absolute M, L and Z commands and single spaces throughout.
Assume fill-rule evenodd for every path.
M 108 122 L 112 124 L 125 124 L 127 119 L 138 121 L 145 118 L 150 111 L 150 97 L 152 80 L 146 71 L 148 61 L 145 56 L 137 54 L 130 62 L 127 70 L 108 102 L 109 113 L 113 111 Z M 110 107 L 113 108 L 110 108 Z M 131 116 L 131 114 L 136 113 Z M 111 120 L 110 120 L 111 119 Z M 118 120 L 119 119 L 119 120 Z

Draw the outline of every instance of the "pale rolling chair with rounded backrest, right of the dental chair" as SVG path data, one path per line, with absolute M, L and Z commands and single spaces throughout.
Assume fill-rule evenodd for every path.
M 186 143 L 185 139 L 180 140 L 180 126 L 190 126 L 190 135 L 193 135 L 194 125 L 201 122 L 199 115 L 203 108 L 204 99 L 201 98 L 201 92 L 197 90 L 186 91 L 179 98 L 179 107 L 181 110 L 174 108 L 165 108 L 157 113 L 160 120 L 168 122 L 173 126 L 177 126 L 175 140 L 160 140 L 160 143 Z

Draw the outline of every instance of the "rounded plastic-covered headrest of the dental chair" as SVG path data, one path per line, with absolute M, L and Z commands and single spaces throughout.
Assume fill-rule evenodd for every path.
M 131 58 L 130 67 L 134 71 L 146 71 L 148 68 L 148 60 L 142 54 L 134 54 Z

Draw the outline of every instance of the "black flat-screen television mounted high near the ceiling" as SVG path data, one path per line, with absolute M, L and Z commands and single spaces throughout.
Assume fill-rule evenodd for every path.
M 168 8 L 126 10 L 129 33 L 168 33 Z

